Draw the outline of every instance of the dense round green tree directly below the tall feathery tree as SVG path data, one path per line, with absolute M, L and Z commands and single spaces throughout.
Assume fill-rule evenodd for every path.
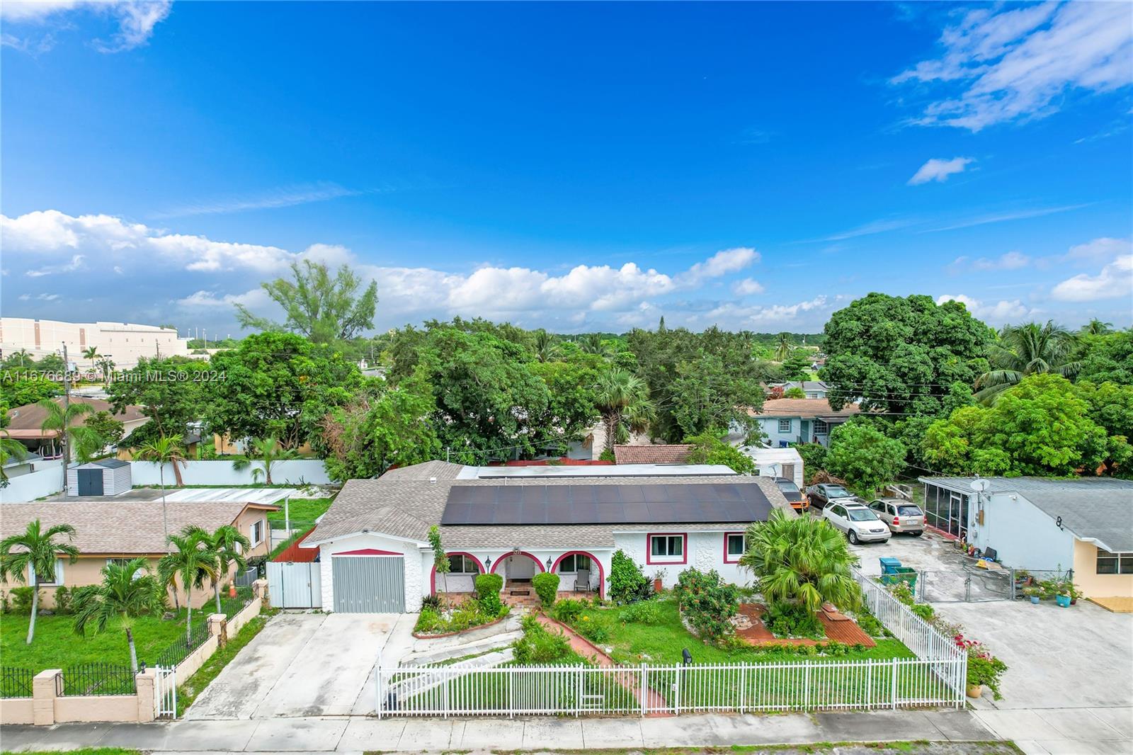
M 208 427 L 231 439 L 276 438 L 284 448 L 316 440 L 323 417 L 364 383 L 340 351 L 295 333 L 249 336 L 214 354 L 212 370 L 223 380 L 205 383 Z

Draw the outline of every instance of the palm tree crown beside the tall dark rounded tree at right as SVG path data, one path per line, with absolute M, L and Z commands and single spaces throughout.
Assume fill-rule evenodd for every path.
M 1076 345 L 1075 336 L 1053 320 L 1045 325 L 1036 322 L 1004 325 L 988 355 L 993 370 L 976 380 L 976 399 L 995 404 L 1000 393 L 1026 375 L 1053 373 L 1073 378 L 1082 366 L 1072 359 Z

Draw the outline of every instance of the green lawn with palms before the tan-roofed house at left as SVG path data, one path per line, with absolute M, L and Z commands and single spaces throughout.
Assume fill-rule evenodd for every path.
M 229 617 L 242 608 L 242 600 L 221 600 L 221 610 Z M 193 626 L 206 622 L 206 617 L 215 610 L 212 601 L 201 609 L 193 609 Z M 52 614 L 40 616 L 35 620 L 35 638 L 31 645 L 27 638 L 29 616 L 23 613 L 5 613 L 0 616 L 0 658 L 3 664 L 32 669 L 39 672 L 44 669 L 62 669 L 78 663 L 120 663 L 129 665 L 130 648 L 126 642 L 126 633 L 117 622 L 107 626 L 104 631 L 93 634 L 87 629 L 80 637 L 74 630 L 74 616 Z M 138 662 L 153 665 L 167 647 L 185 637 L 185 609 L 177 619 L 164 620 L 161 616 L 143 616 L 134 621 L 134 644 L 137 647 Z

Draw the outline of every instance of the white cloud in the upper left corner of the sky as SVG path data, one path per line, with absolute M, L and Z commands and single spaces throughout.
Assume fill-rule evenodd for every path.
M 111 16 L 118 22 L 118 31 L 110 40 L 94 40 L 100 52 L 122 52 L 133 50 L 150 41 L 153 28 L 169 16 L 172 0 L 5 0 L 0 2 L 0 19 L 11 25 L 66 25 L 62 19 L 73 11 L 91 11 Z M 2 44 L 24 51 L 44 52 L 51 46 L 51 35 L 39 42 L 5 33 Z

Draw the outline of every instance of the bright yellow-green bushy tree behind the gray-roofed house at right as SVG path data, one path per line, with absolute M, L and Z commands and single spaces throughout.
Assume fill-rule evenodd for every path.
M 963 407 L 934 422 L 923 452 L 948 474 L 1070 476 L 1092 474 L 1102 463 L 1121 467 L 1133 448 L 1124 436 L 1109 435 L 1091 410 L 1065 378 L 1029 375 L 990 407 Z

